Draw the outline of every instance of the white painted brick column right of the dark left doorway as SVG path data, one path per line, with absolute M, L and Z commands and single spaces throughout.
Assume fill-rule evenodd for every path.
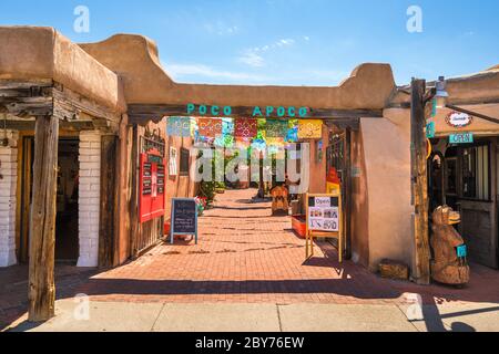
M 80 258 L 78 267 L 98 267 L 99 211 L 101 190 L 101 136 L 94 132 L 80 134 Z

